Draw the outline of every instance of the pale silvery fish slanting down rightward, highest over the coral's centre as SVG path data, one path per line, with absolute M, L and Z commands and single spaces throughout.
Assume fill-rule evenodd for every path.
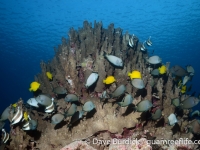
M 114 55 L 108 55 L 108 54 L 106 54 L 105 51 L 104 51 L 104 57 L 105 57 L 111 64 L 113 64 L 114 66 L 123 67 L 123 61 L 122 61 L 121 58 L 116 57 L 116 56 L 114 56 Z

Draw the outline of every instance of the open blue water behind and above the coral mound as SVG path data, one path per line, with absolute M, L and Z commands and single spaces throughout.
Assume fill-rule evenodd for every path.
M 171 66 L 195 68 L 192 92 L 199 91 L 199 0 L 0 0 L 0 112 L 28 91 L 40 61 L 53 58 L 53 47 L 83 21 L 110 23 L 138 36 L 152 36 L 150 51 Z

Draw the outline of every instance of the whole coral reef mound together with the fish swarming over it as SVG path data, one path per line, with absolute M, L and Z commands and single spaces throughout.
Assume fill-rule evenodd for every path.
M 200 139 L 199 111 L 191 111 L 200 99 L 186 88 L 194 68 L 149 56 L 151 36 L 140 42 L 122 31 L 96 21 L 71 28 L 54 58 L 40 63 L 30 84 L 33 97 L 2 112 L 0 149 L 196 149 L 198 144 L 148 142 Z M 6 120 L 10 132 L 3 128 Z

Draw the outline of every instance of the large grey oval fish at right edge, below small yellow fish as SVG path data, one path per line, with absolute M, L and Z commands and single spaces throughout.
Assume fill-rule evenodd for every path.
M 196 97 L 189 97 L 186 100 L 184 100 L 183 102 L 181 102 L 180 107 L 182 109 L 190 109 L 194 106 L 196 106 L 199 103 L 199 99 Z

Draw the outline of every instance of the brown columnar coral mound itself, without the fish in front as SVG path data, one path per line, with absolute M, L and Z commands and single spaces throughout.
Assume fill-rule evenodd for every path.
M 70 117 L 55 126 L 50 123 L 53 114 L 46 115 L 43 110 L 33 109 L 29 115 L 38 121 L 37 130 L 23 131 L 20 126 L 13 126 L 10 132 L 11 140 L 7 145 L 9 149 L 61 149 L 73 141 L 92 141 L 93 138 L 106 140 L 134 136 L 138 139 L 150 140 L 163 137 L 192 139 L 193 134 L 199 133 L 197 129 L 193 134 L 186 129 L 192 124 L 187 121 L 187 118 L 183 119 L 183 116 L 187 117 L 189 111 L 177 110 L 171 104 L 171 99 L 179 97 L 180 93 L 180 89 L 176 87 L 172 90 L 171 74 L 167 72 L 157 77 L 151 75 L 150 72 L 155 65 L 151 66 L 145 61 L 148 52 L 140 50 L 142 43 L 139 42 L 138 37 L 133 37 L 134 46 L 130 47 L 128 43 L 132 35 L 128 32 L 122 34 L 122 29 L 114 28 L 114 24 L 110 24 L 108 29 L 105 29 L 101 22 L 94 22 L 92 27 L 87 21 L 78 31 L 70 29 L 68 36 L 69 39 L 62 38 L 62 44 L 55 48 L 55 57 L 52 61 L 41 62 L 42 72 L 35 76 L 35 81 L 41 86 L 34 94 L 35 96 L 41 92 L 50 94 L 57 105 L 54 113 L 63 113 L 71 104 L 64 101 L 63 95 L 56 95 L 52 91 L 53 88 L 61 86 L 66 88 L 68 93 L 78 95 L 81 103 L 92 101 L 96 106 L 95 111 L 86 114 L 83 119 L 68 128 Z M 123 68 L 111 65 L 104 58 L 104 52 L 121 58 L 124 62 Z M 169 67 L 169 64 L 166 66 Z M 127 74 L 133 70 L 141 72 L 144 89 L 138 90 L 131 85 Z M 52 81 L 46 77 L 47 71 L 53 74 Z M 92 72 L 97 72 L 99 79 L 95 85 L 86 89 L 86 80 Z M 102 81 L 109 75 L 113 75 L 117 81 L 107 86 Z M 115 101 L 119 101 L 120 98 L 100 101 L 103 91 L 112 93 L 122 84 L 126 86 L 126 92 L 134 97 L 133 104 L 119 107 Z M 153 107 L 147 112 L 136 112 L 134 107 L 142 100 L 150 100 Z M 162 110 L 162 116 L 152 120 L 151 114 L 157 109 Z M 81 105 L 78 106 L 78 110 L 81 110 Z M 176 113 L 180 120 L 174 126 L 168 125 L 168 116 L 171 113 Z M 109 148 L 109 145 L 103 144 L 92 146 L 96 149 Z M 153 145 L 153 149 L 161 149 L 161 147 L 164 146 Z

